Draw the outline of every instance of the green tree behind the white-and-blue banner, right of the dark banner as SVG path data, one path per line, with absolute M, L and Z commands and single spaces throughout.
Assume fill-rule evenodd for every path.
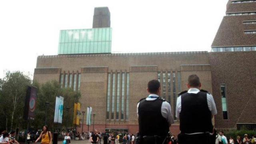
M 79 101 L 80 92 L 74 91 L 71 88 L 61 88 L 57 81 L 46 82 L 42 85 L 34 82 L 33 85 L 39 88 L 35 110 L 36 118 L 32 123 L 34 127 L 42 128 L 46 116 L 46 124 L 49 126 L 49 128 L 56 128 L 56 124 L 54 124 L 56 96 L 64 97 L 63 119 L 60 127 L 66 126 L 66 124 L 68 124 L 68 126 L 72 126 L 74 103 Z M 50 103 L 48 108 L 46 108 L 45 102 Z M 68 112 L 66 111 L 67 107 L 70 108 Z

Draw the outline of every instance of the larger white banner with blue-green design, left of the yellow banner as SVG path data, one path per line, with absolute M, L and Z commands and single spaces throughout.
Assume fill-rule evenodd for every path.
M 62 124 L 63 102 L 64 98 L 62 96 L 56 96 L 54 122 L 60 124 Z

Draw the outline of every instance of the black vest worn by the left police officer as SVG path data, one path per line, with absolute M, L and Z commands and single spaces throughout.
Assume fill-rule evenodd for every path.
M 140 101 L 138 107 L 139 132 L 141 136 L 166 136 L 169 132 L 167 119 L 162 116 L 161 108 L 164 100 Z

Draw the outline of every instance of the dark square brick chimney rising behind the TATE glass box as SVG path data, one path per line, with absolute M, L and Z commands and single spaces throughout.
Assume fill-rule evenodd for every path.
M 92 28 L 110 28 L 110 12 L 108 7 L 94 8 Z

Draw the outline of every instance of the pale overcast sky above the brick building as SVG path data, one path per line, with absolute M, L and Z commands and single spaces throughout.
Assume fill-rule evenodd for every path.
M 1 0 L 0 78 L 57 55 L 59 31 L 92 28 L 108 6 L 112 52 L 210 51 L 228 0 Z

